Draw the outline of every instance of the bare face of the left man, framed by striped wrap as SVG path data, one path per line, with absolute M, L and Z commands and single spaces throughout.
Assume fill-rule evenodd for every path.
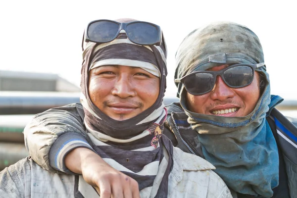
M 92 69 L 89 76 L 92 102 L 115 120 L 135 117 L 159 95 L 159 78 L 139 67 L 100 66 Z

